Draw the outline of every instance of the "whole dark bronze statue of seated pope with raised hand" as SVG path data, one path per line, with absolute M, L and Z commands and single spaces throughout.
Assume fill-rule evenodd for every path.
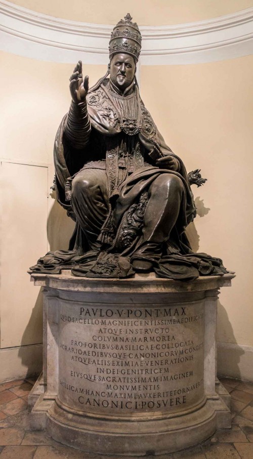
M 220 259 L 194 254 L 184 230 L 196 209 L 182 160 L 165 144 L 140 98 L 141 34 L 130 14 L 111 33 L 108 71 L 89 90 L 79 61 L 72 102 L 55 142 L 57 199 L 76 222 L 69 251 L 49 253 L 33 270 L 127 277 L 154 270 L 192 280 L 227 272 Z M 191 182 L 191 183 L 190 183 Z

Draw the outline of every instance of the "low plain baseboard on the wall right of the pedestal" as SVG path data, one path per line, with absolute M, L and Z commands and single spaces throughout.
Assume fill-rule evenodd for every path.
M 223 377 L 253 382 L 253 346 L 218 343 L 217 372 Z

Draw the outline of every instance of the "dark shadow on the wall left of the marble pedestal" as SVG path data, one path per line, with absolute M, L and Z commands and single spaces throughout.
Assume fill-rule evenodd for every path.
M 34 343 L 37 344 L 31 344 Z M 22 367 L 26 368 L 23 372 L 26 376 L 39 374 L 43 365 L 42 354 L 43 343 L 43 294 L 42 288 L 32 309 L 29 322 L 27 323 L 21 344 L 18 352 L 18 357 L 21 359 Z

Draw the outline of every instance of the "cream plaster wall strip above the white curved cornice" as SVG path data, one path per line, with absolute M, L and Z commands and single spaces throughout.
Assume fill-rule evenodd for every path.
M 75 0 L 71 4 L 62 0 L 13 0 L 14 4 L 39 13 L 73 21 L 116 24 L 126 13 L 139 25 L 168 25 L 201 21 L 234 13 L 252 6 L 252 0 Z

